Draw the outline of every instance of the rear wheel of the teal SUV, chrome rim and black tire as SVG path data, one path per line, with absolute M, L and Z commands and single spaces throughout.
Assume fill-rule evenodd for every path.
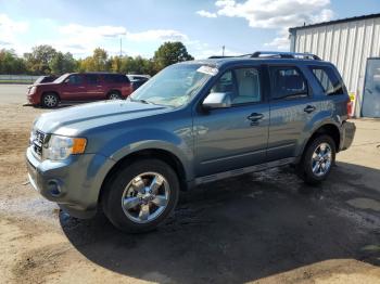
M 307 144 L 297 165 L 299 176 L 308 184 L 318 184 L 330 175 L 335 164 L 335 143 L 329 135 L 319 135 Z

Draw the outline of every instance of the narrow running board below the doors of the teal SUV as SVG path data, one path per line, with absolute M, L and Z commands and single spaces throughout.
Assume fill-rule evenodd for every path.
M 255 172 L 255 171 L 261 171 L 269 168 L 276 168 L 289 164 L 293 164 L 295 162 L 295 157 L 291 158 L 283 158 L 283 159 L 278 159 L 274 162 L 268 162 L 255 166 L 250 166 L 245 168 L 240 168 L 240 169 L 233 169 L 229 171 L 224 171 L 224 172 L 218 172 L 210 176 L 204 176 L 195 179 L 195 185 L 200 185 L 203 183 L 212 182 L 212 181 L 217 181 L 217 180 L 223 180 L 223 179 L 228 179 L 250 172 Z

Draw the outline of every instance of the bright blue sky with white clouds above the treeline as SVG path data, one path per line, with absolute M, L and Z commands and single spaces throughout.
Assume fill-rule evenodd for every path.
M 380 13 L 380 0 L 0 0 L 0 49 L 152 57 L 182 41 L 195 59 L 289 50 L 288 28 Z

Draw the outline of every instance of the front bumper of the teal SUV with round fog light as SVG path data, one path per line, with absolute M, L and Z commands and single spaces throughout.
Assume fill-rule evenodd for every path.
M 84 154 L 62 162 L 39 160 L 30 147 L 26 159 L 30 184 L 45 198 L 77 218 L 96 215 L 102 182 L 114 165 L 112 159 Z

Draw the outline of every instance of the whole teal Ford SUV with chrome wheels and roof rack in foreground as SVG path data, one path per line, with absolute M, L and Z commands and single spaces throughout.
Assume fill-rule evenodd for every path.
M 255 52 L 172 65 L 127 100 L 42 114 L 26 151 L 28 177 L 77 218 L 103 210 L 148 231 L 180 191 L 282 165 L 324 181 L 355 126 L 337 68 L 316 55 Z

